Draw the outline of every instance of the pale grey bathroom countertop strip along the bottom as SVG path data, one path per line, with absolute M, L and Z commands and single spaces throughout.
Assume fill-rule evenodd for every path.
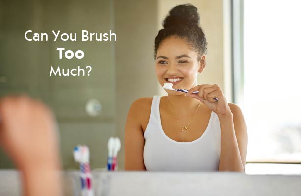
M 95 196 L 300 196 L 301 175 L 92 171 Z M 21 194 L 19 172 L 0 170 L 0 195 Z M 79 172 L 63 171 L 64 195 L 80 196 Z

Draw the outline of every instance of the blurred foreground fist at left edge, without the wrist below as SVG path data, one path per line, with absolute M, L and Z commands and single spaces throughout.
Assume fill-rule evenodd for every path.
M 58 165 L 56 124 L 44 104 L 26 96 L 1 98 L 0 118 L 0 144 L 18 167 Z

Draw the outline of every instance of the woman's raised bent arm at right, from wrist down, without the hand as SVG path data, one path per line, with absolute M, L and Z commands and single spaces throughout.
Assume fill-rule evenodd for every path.
M 232 114 L 218 115 L 221 125 L 219 171 L 245 172 L 247 128 L 241 109 L 229 103 Z

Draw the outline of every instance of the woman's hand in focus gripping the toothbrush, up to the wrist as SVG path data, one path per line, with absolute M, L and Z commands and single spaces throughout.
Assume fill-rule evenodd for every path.
M 199 91 L 199 93 L 192 94 L 193 91 Z M 217 84 L 202 84 L 195 86 L 188 91 L 186 96 L 200 100 L 217 115 L 231 114 L 231 109 L 224 97 L 221 87 Z M 214 98 L 218 98 L 218 101 Z

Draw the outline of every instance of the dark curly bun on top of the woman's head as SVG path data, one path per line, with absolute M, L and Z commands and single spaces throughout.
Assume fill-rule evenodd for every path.
M 163 21 L 163 27 L 168 28 L 177 25 L 199 26 L 200 16 L 197 8 L 192 4 L 177 5 L 169 11 Z

